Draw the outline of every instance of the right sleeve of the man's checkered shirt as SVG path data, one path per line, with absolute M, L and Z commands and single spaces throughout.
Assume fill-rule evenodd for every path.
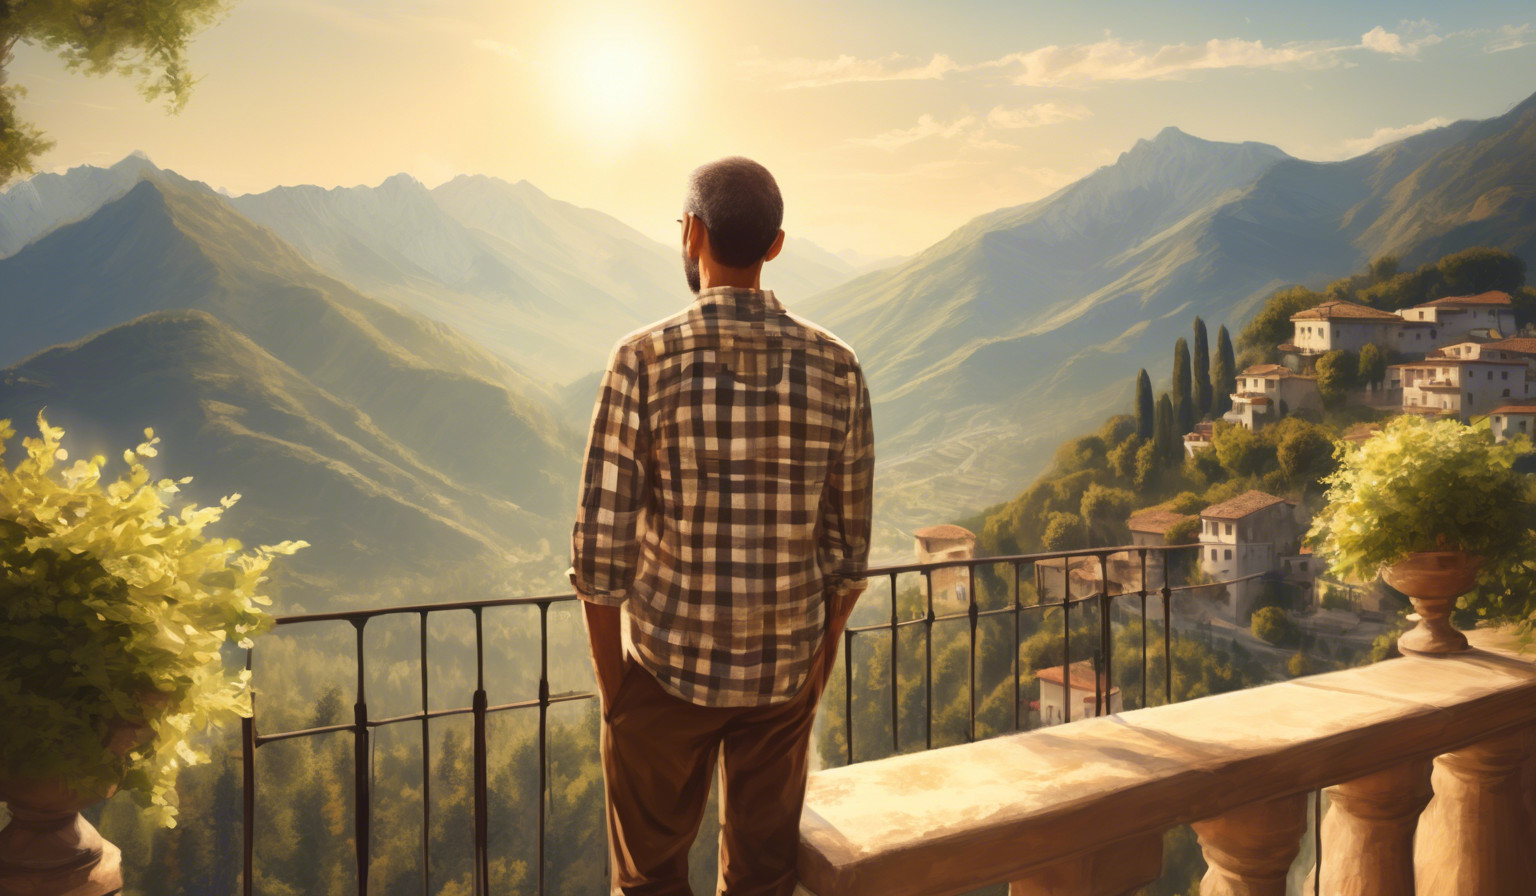
M 863 581 L 869 566 L 869 526 L 874 495 L 874 423 L 869 387 L 857 364 L 851 372 L 848 433 L 833 456 L 822 495 L 822 538 L 817 546 L 822 578 L 829 592 Z

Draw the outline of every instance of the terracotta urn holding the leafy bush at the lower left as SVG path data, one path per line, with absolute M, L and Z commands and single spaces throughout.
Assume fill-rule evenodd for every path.
M 163 699 L 154 701 L 164 704 Z M 138 721 L 112 725 L 108 747 L 118 756 L 147 742 L 152 728 Z M 0 802 L 11 824 L 0 830 L 0 896 L 109 896 L 123 888 L 121 851 L 80 815 L 117 793 L 80 793 L 63 779 L 25 781 L 0 772 Z

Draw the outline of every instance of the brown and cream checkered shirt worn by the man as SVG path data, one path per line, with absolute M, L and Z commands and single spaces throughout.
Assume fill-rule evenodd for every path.
M 874 433 L 852 349 L 773 292 L 711 287 L 613 350 L 571 581 L 628 604 L 639 662 L 702 705 L 805 682 L 826 596 L 865 576 Z

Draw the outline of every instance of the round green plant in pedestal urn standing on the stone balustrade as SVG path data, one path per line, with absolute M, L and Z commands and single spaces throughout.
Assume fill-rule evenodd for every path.
M 1338 449 L 1327 506 L 1307 539 L 1335 575 L 1369 582 L 1379 572 L 1409 595 L 1419 619 L 1398 639 L 1404 653 L 1464 650 L 1467 638 L 1448 619 L 1456 598 L 1528 570 L 1531 476 L 1513 467 L 1521 452 L 1455 420 L 1409 415 Z M 1524 598 L 1501 609 L 1519 618 L 1521 606 Z

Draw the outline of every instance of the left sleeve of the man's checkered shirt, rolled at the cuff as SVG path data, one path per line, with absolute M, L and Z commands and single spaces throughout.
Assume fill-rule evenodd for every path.
M 644 409 L 639 357 L 621 344 L 598 390 L 571 532 L 571 584 L 594 604 L 622 604 L 634 581 L 648 487 Z

